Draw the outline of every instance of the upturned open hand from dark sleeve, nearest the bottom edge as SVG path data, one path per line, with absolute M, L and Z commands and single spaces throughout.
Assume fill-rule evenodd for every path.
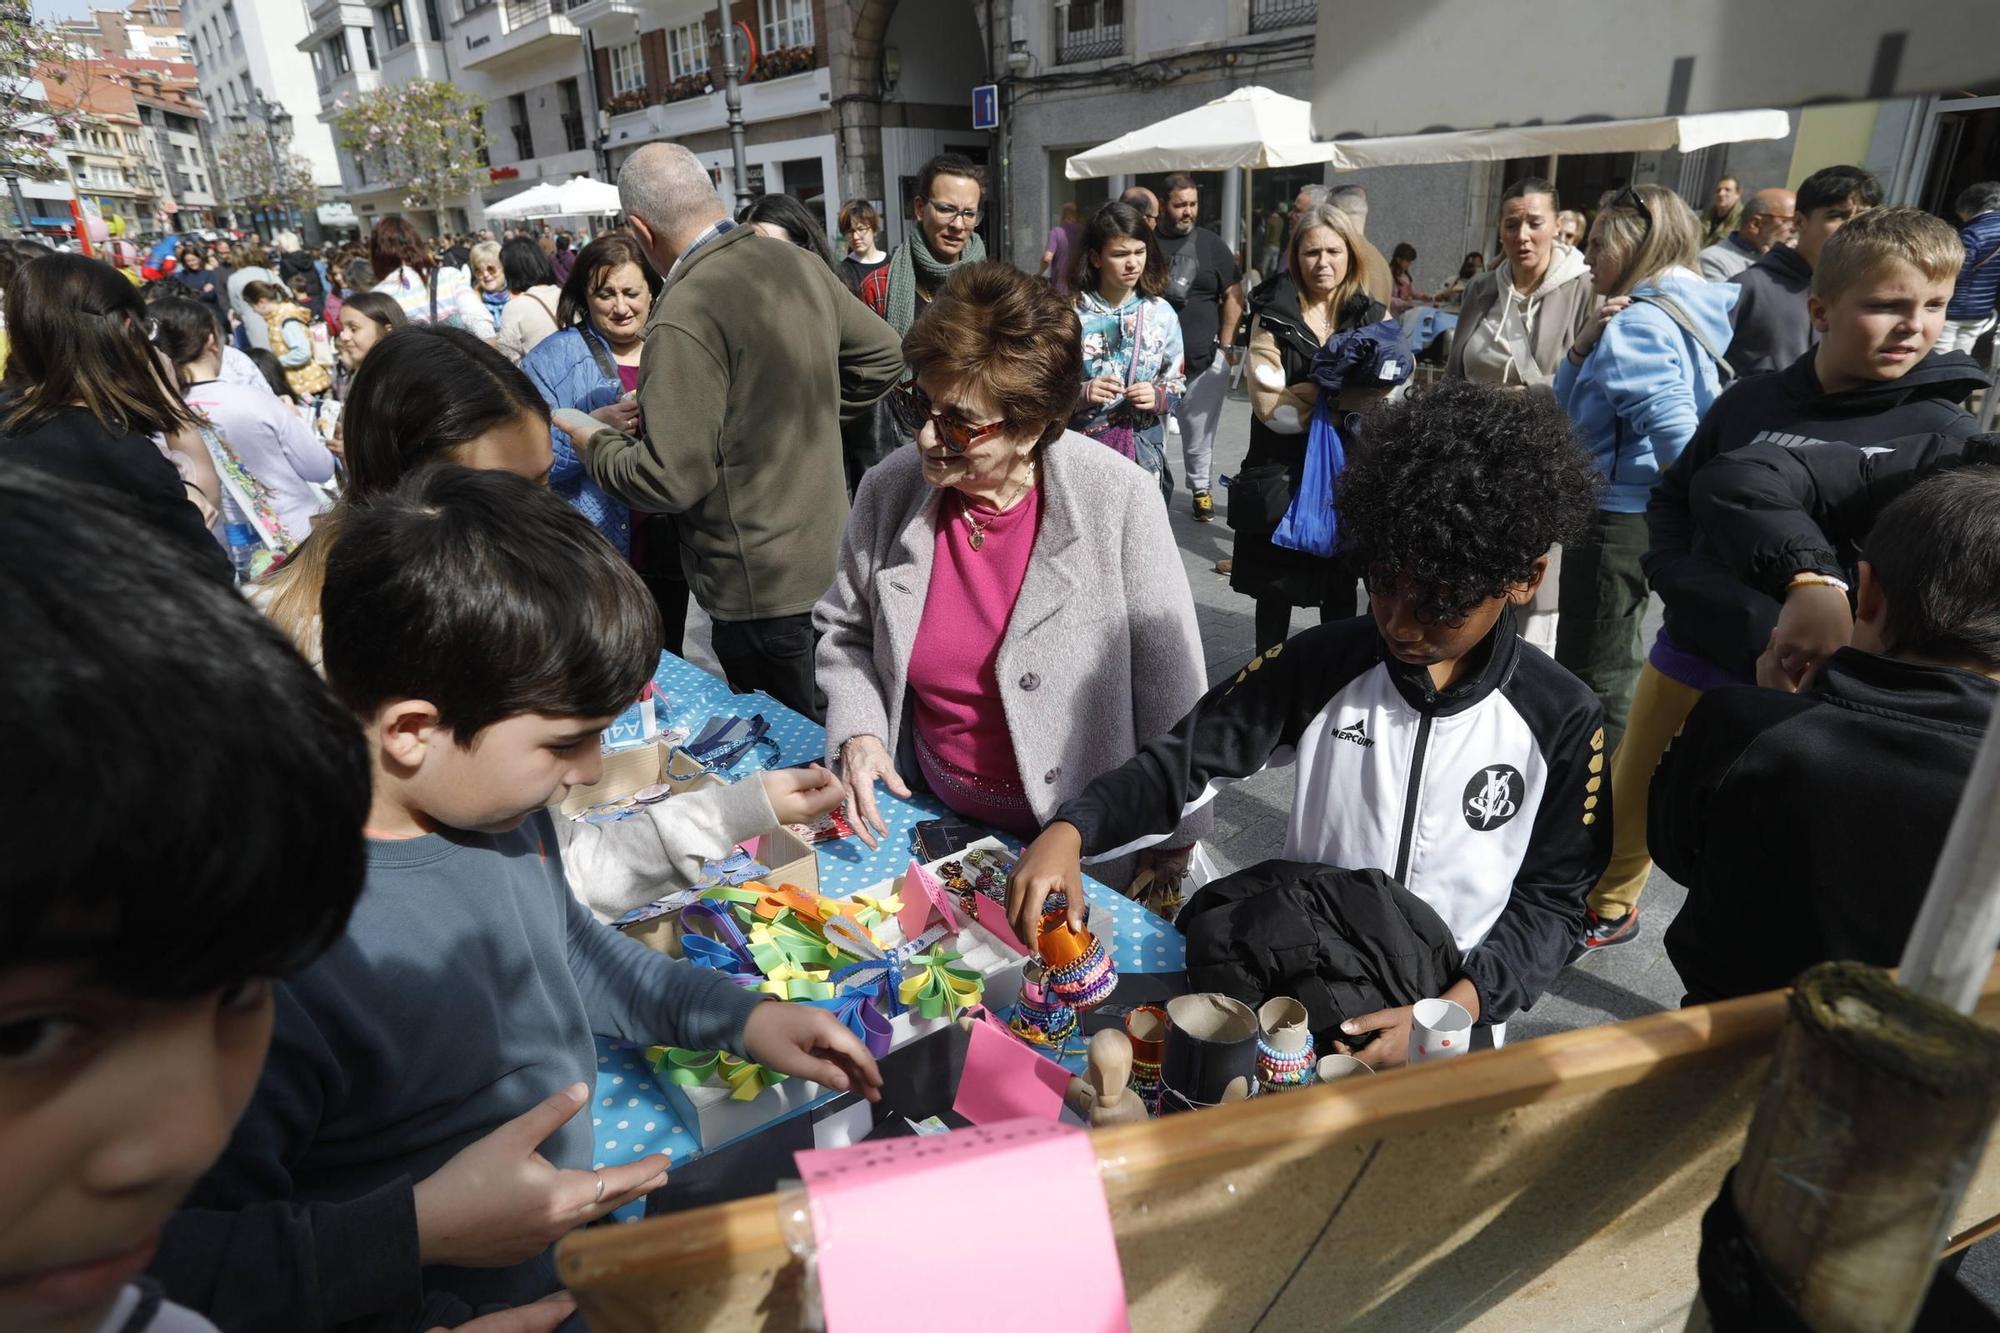
M 522 1263 L 586 1221 L 666 1185 L 666 1153 L 602 1171 L 560 1171 L 542 1157 L 542 1143 L 588 1099 L 590 1089 L 572 1083 L 418 1181 L 418 1261 L 468 1269 Z

